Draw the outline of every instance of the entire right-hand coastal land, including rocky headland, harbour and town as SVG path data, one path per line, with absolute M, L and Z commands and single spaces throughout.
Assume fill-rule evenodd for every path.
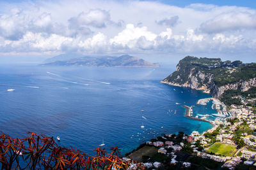
M 220 59 L 180 60 L 176 71 L 161 82 L 209 92 L 213 97 L 196 104 L 207 106 L 212 101 L 218 114 L 200 114 L 198 118 L 193 117 L 191 106 L 182 107 L 186 108 L 185 117 L 214 127 L 202 134 L 162 134 L 126 156 L 143 162 L 147 169 L 255 169 L 255 67 L 254 63 Z M 210 116 L 216 119 L 207 120 Z

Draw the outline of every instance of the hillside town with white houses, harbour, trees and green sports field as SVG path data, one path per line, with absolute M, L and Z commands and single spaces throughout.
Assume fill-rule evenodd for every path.
M 125 159 L 142 162 L 147 169 L 256 169 L 256 111 L 245 105 L 227 107 L 214 98 L 197 104 L 211 100 L 218 110 L 217 118 L 209 121 L 212 129 L 202 134 L 162 134 L 127 153 Z M 194 118 L 191 107 L 187 111 Z

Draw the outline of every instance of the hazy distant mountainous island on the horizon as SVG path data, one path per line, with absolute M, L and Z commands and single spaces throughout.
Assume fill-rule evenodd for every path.
M 77 54 L 61 54 L 45 60 L 41 66 L 95 66 L 95 67 L 159 67 L 159 64 L 147 62 L 131 55 L 120 57 L 88 57 Z

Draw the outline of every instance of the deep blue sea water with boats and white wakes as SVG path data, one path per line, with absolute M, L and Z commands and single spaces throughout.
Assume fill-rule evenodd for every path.
M 215 113 L 211 107 L 196 105 L 209 94 L 160 83 L 172 71 L 170 67 L 1 66 L 0 130 L 13 138 L 24 138 L 28 131 L 60 136 L 61 146 L 86 153 L 104 139 L 107 149 L 118 146 L 126 153 L 162 133 L 210 129 L 207 122 L 184 117 L 182 108 L 194 105 L 194 113 Z

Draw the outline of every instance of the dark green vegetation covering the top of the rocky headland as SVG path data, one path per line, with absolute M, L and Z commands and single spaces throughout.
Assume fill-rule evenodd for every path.
M 204 74 L 211 74 L 214 83 L 221 86 L 256 77 L 256 63 L 243 64 L 239 60 L 222 62 L 219 58 L 208 59 L 188 56 L 179 61 L 177 70 L 168 76 L 166 80 L 170 82 L 175 81 L 176 83 L 186 83 L 189 76 L 199 76 L 198 71 Z M 192 74 L 190 75 L 188 73 Z M 204 81 L 200 82 L 204 83 Z

